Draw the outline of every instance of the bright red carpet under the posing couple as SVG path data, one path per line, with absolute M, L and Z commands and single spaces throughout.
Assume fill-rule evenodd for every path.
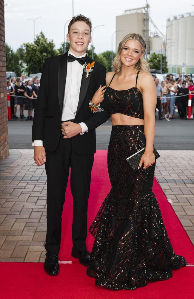
M 88 224 L 92 222 L 101 202 L 110 191 L 107 172 L 107 151 L 97 151 L 92 171 L 91 192 L 88 206 Z M 178 217 L 154 181 L 155 193 L 161 208 L 164 223 L 176 254 L 183 255 L 188 263 L 194 263 L 194 247 L 184 231 Z M 86 268 L 71 257 L 72 196 L 67 187 L 63 212 L 60 273 L 50 277 L 44 273 L 42 263 L 0 263 L 1 299 L 191 299 L 193 298 L 194 267 L 173 270 L 169 280 L 148 283 L 147 286 L 133 291 L 110 291 L 94 285 L 94 279 L 87 277 Z M 91 250 L 93 237 L 88 234 L 87 246 Z

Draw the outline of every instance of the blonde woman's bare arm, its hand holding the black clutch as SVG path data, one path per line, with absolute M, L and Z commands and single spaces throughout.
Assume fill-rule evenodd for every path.
M 141 157 L 139 167 L 144 163 L 147 168 L 155 163 L 153 155 L 154 136 L 155 136 L 155 107 L 157 103 L 157 92 L 155 82 L 149 73 L 143 73 L 141 77 L 140 87 L 143 95 L 144 105 L 144 133 L 146 146 L 144 154 Z

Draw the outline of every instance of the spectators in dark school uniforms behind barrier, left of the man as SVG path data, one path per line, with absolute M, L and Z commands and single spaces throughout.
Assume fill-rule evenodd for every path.
M 39 94 L 40 79 L 33 77 L 32 80 L 26 80 L 24 74 L 21 77 L 11 77 L 7 81 L 7 94 L 10 94 L 11 118 L 17 120 L 33 120 L 33 109 L 36 106 L 36 98 Z M 17 116 L 17 107 L 19 105 L 20 117 Z M 27 118 L 24 116 L 24 110 L 28 110 Z

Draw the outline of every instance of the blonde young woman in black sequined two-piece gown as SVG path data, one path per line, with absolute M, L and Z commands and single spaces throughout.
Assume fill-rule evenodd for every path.
M 111 190 L 89 229 L 95 241 L 87 274 L 96 278 L 96 285 L 112 290 L 166 280 L 172 269 L 187 265 L 173 251 L 152 192 L 157 94 L 144 51 L 140 35 L 125 36 L 114 72 L 106 77 L 104 103 L 113 124 L 108 147 Z M 126 158 L 143 147 L 140 169 L 133 173 Z

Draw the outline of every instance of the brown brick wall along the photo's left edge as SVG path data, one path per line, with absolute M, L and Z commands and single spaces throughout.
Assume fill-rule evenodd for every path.
M 8 155 L 4 0 L 0 0 L 0 160 Z

